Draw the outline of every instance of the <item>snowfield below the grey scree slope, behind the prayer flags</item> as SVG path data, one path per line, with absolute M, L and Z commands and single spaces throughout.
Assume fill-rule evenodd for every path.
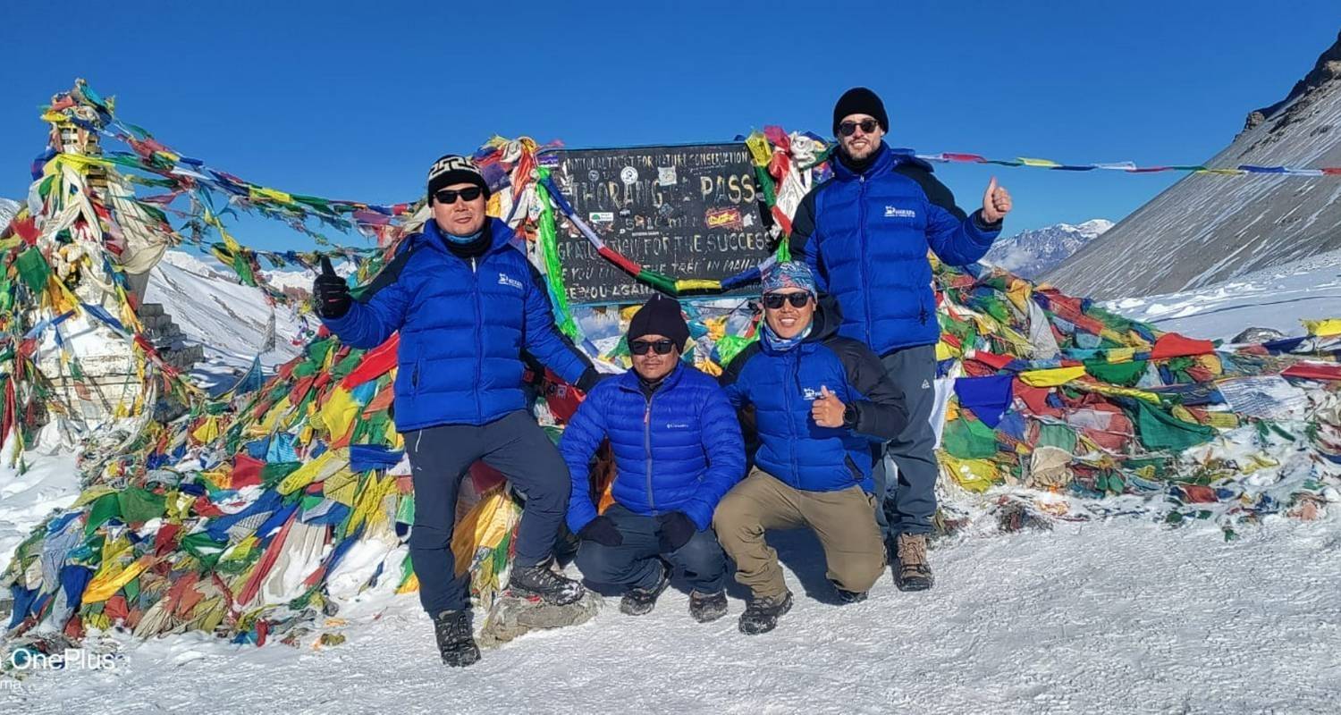
M 1341 251 L 1195 291 L 1122 298 L 1104 307 L 1195 338 L 1231 339 L 1246 327 L 1302 335 L 1299 321 L 1341 318 Z

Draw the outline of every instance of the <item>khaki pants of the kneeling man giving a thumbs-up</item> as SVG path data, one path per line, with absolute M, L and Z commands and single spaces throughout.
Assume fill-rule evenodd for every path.
M 756 598 L 787 590 L 778 551 L 763 539 L 768 529 L 814 530 L 825 550 L 827 575 L 843 590 L 869 590 L 885 569 L 876 502 L 860 486 L 801 491 L 755 468 L 717 504 L 712 526 L 721 549 L 736 562 L 736 581 Z

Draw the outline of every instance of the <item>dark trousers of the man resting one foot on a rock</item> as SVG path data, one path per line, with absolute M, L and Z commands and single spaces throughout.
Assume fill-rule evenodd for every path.
M 414 480 L 414 526 L 410 559 L 420 582 L 420 604 L 430 616 L 471 605 L 469 574 L 456 575 L 452 527 L 456 495 L 476 460 L 507 475 L 526 496 L 516 529 L 512 566 L 535 566 L 550 558 L 569 510 L 569 467 L 526 412 L 483 425 L 448 424 L 405 433 Z

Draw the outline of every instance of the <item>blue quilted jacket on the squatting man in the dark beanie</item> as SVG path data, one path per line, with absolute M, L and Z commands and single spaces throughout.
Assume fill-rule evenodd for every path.
M 629 370 L 591 389 L 559 441 L 573 475 L 574 533 L 597 516 L 589 461 L 605 437 L 614 451 L 616 502 L 644 515 L 683 511 L 700 531 L 746 472 L 740 425 L 712 377 L 681 362 L 648 398 Z

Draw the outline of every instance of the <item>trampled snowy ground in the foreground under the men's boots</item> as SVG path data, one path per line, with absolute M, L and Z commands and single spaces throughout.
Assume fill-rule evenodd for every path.
M 1116 520 L 971 537 L 932 551 L 937 585 L 827 601 L 819 547 L 779 546 L 797 605 L 747 637 L 666 592 L 641 618 L 522 637 L 457 671 L 413 596 L 319 651 L 149 641 L 105 671 L 0 692 L 23 712 L 1336 712 L 1341 531 L 1271 519 L 1218 529 Z

